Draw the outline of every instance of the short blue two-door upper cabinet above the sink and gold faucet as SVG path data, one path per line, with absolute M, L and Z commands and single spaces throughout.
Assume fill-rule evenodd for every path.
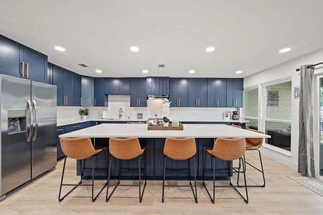
M 104 92 L 108 95 L 129 95 L 130 79 L 129 78 L 105 78 Z

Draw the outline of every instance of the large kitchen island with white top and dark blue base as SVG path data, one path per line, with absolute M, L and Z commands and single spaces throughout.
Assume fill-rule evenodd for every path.
M 195 155 L 197 178 L 201 179 L 203 173 L 203 163 L 205 148 L 213 147 L 214 138 L 237 138 L 237 137 L 260 137 L 270 138 L 270 135 L 261 134 L 241 128 L 225 124 L 184 124 L 183 130 L 148 130 L 147 124 L 99 124 L 81 130 L 61 134 L 60 137 L 91 137 L 95 147 L 109 148 L 109 138 L 118 137 L 138 137 L 140 145 L 146 148 L 145 166 L 147 179 L 162 179 L 164 165 L 164 142 L 167 137 L 195 137 L 197 153 Z M 108 151 L 108 150 L 107 150 Z M 107 152 L 106 152 L 107 153 Z M 108 154 L 108 153 L 107 153 Z M 107 155 L 108 156 L 108 155 Z M 108 159 L 109 160 L 109 159 Z M 98 157 L 97 168 L 104 167 L 104 156 Z M 210 159 L 206 161 L 207 169 L 211 169 Z M 90 165 L 90 162 L 87 162 Z M 86 164 L 86 166 L 87 166 Z M 119 171 L 119 162 L 113 162 L 112 176 L 116 178 Z M 135 168 L 137 162 L 123 161 L 122 162 L 122 178 L 133 179 L 137 176 L 135 172 L 127 171 L 128 168 Z M 79 166 L 79 165 L 78 165 Z M 182 169 L 187 166 L 187 161 L 170 161 L 167 164 L 167 169 Z M 191 165 L 193 166 L 193 165 Z M 217 169 L 231 169 L 232 164 L 226 161 L 219 160 Z M 78 168 L 79 174 L 79 168 Z M 170 178 L 181 179 L 183 173 L 169 173 Z M 207 177 L 211 177 L 211 173 L 207 173 Z M 88 176 L 89 175 L 86 175 Z M 96 178 L 106 178 L 104 172 L 97 172 Z M 226 175 L 218 175 L 218 179 L 226 179 Z

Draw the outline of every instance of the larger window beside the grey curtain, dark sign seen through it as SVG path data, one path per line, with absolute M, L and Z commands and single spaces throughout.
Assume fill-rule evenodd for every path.
M 272 138 L 266 144 L 291 151 L 292 82 L 266 85 L 265 130 Z

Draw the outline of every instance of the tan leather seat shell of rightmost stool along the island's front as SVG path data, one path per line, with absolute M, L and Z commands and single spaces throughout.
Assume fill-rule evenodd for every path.
M 214 147 L 210 154 L 225 161 L 233 161 L 241 158 L 245 152 L 245 138 L 217 138 L 214 142 Z

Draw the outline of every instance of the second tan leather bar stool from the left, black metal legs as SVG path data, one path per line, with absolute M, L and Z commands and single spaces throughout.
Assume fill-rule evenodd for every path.
M 145 191 L 146 187 L 146 171 L 145 171 L 145 164 L 144 168 L 141 168 L 141 155 L 144 153 L 145 149 L 140 147 L 140 143 L 138 138 L 132 137 L 132 138 L 110 138 L 109 140 L 109 152 L 111 154 L 110 158 L 110 165 L 109 165 L 109 176 L 107 177 L 107 190 L 106 190 L 106 199 L 105 201 L 109 201 L 110 197 L 116 190 L 118 186 L 135 186 L 139 187 L 139 202 L 142 200 L 143 192 Z M 112 159 L 116 158 L 119 159 L 120 165 L 119 165 L 119 180 L 117 184 L 110 184 L 110 178 L 111 178 L 111 164 L 112 164 Z M 139 166 L 138 166 L 138 172 L 139 172 L 139 184 L 120 184 L 120 177 L 121 177 L 121 160 L 130 160 L 130 159 L 135 159 L 138 158 L 139 160 Z M 144 163 L 144 162 L 143 162 Z M 133 170 L 133 169 L 129 169 Z M 135 169 L 137 170 L 137 169 Z M 143 170 L 144 175 L 145 175 L 145 183 L 143 190 L 141 192 L 141 171 Z M 109 187 L 110 186 L 115 186 L 115 188 L 112 190 L 111 194 L 109 197 L 107 196 L 109 192 Z

